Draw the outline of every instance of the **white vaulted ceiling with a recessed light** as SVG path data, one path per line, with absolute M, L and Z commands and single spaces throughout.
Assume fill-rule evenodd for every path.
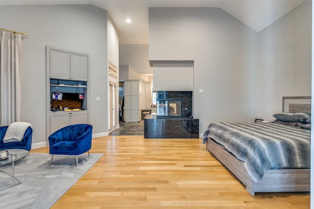
M 216 7 L 257 32 L 305 0 L 0 0 L 0 5 L 92 4 L 108 11 L 120 44 L 148 44 L 149 7 Z M 126 19 L 130 18 L 131 23 Z

